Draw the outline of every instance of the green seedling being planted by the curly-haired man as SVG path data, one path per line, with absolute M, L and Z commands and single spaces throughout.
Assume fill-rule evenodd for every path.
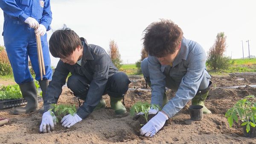
M 150 108 L 153 108 L 153 109 L 161 109 L 158 105 L 156 104 L 149 104 L 148 102 L 141 102 L 141 101 L 138 101 L 137 103 L 135 103 L 131 109 L 130 109 L 130 115 L 131 116 L 134 116 L 135 112 L 139 113 L 139 112 L 143 112 L 144 115 L 142 115 L 144 118 L 145 118 L 145 121 L 148 122 L 148 111 Z

